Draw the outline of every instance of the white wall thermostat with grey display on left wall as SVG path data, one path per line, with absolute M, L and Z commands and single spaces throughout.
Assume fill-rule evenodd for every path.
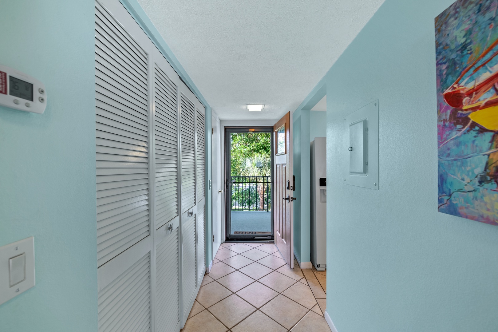
M 0 65 L 0 105 L 41 114 L 47 105 L 45 86 L 31 76 Z

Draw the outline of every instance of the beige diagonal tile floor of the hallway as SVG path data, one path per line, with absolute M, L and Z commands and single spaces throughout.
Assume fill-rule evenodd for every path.
M 326 276 L 291 270 L 272 243 L 223 243 L 182 332 L 330 332 Z

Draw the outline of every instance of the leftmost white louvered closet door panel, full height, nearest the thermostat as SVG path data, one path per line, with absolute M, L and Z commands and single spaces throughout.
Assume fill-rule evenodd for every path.
M 109 11 L 108 11 L 109 10 Z M 100 332 L 153 329 L 152 43 L 118 0 L 95 3 Z

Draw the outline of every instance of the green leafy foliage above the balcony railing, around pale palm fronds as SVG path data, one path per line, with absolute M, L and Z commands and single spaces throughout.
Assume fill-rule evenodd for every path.
M 238 132 L 232 133 L 232 146 L 230 151 L 230 163 L 232 176 L 242 174 L 247 168 L 247 158 L 259 156 L 270 160 L 270 139 L 269 132 Z M 251 162 L 249 162 L 250 164 Z M 248 164 L 248 165 L 249 165 Z M 247 170 L 246 170 L 247 172 Z M 249 175 L 249 174 L 247 174 Z M 254 174 L 263 175 L 263 174 Z M 270 174 L 268 174 L 269 176 Z

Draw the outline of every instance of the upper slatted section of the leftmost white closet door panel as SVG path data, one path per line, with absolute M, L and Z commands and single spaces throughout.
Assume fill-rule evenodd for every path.
M 98 2 L 95 15 L 97 259 L 101 266 L 150 234 L 149 55 Z M 143 318 L 127 317 L 127 327 L 139 326 Z

